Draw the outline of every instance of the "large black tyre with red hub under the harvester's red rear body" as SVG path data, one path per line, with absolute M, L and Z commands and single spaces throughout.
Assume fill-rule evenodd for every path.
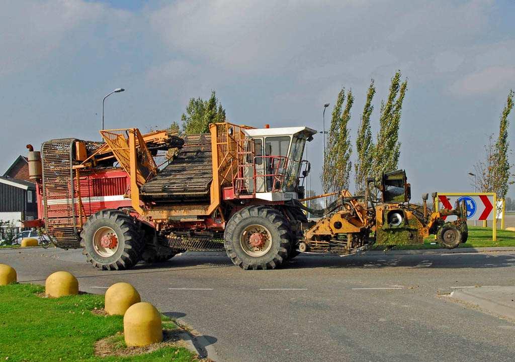
M 145 242 L 138 223 L 119 210 L 101 210 L 88 218 L 80 233 L 82 254 L 96 268 L 130 269 L 140 261 Z

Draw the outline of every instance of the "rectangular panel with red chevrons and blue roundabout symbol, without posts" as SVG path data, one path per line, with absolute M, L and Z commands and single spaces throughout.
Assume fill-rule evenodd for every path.
M 468 220 L 493 220 L 493 194 L 438 194 L 440 208 L 453 209 L 456 201 L 465 201 Z M 456 216 L 454 216 L 455 218 Z

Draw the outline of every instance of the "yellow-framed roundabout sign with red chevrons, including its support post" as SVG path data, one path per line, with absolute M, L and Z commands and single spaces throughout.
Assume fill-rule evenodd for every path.
M 452 209 L 456 202 L 462 201 L 465 201 L 467 206 L 467 220 L 482 220 L 484 226 L 486 226 L 487 220 L 492 220 L 492 240 L 496 241 L 497 195 L 495 192 L 438 192 L 436 194 L 435 209 L 438 211 L 440 204 L 445 209 Z M 449 216 L 449 218 L 452 217 Z

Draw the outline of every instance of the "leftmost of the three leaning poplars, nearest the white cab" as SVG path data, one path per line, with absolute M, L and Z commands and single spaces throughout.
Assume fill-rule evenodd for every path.
M 346 97 L 345 88 L 342 88 L 333 108 L 325 162 L 320 175 L 325 193 L 349 188 L 352 148 L 348 124 L 353 103 L 352 91 L 349 90 Z

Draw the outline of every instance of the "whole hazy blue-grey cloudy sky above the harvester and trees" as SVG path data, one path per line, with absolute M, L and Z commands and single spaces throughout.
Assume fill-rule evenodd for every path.
M 419 200 L 470 190 L 467 173 L 515 88 L 508 0 L 27 0 L 1 2 L 0 14 L 0 170 L 27 143 L 98 139 L 101 100 L 116 87 L 126 92 L 106 101 L 106 127 L 146 131 L 179 120 L 189 98 L 211 89 L 232 122 L 321 129 L 323 103 L 345 86 L 354 142 L 370 79 L 375 135 L 401 69 L 399 166 Z M 309 147 L 316 188 L 321 143 Z

